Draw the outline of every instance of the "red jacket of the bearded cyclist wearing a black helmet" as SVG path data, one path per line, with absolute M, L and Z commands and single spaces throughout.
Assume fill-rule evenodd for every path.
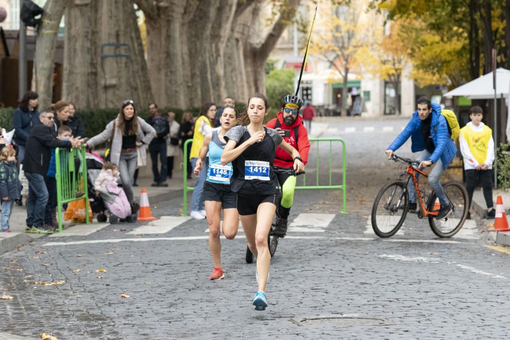
M 310 151 L 310 141 L 308 140 L 308 133 L 307 129 L 303 126 L 303 120 L 301 117 L 297 116 L 296 121 L 291 126 L 287 126 L 284 124 L 284 117 L 281 112 L 278 112 L 278 116 L 274 119 L 271 119 L 267 122 L 266 127 L 274 128 L 276 124 L 276 119 L 280 122 L 280 128 L 282 130 L 290 130 L 290 136 L 284 137 L 284 140 L 289 143 L 291 146 L 293 146 L 297 151 L 299 151 L 299 155 L 301 156 L 301 159 L 303 160 L 304 164 L 307 164 L 308 162 L 308 151 Z M 296 126 L 299 126 L 298 128 L 298 136 L 299 139 L 296 143 L 296 139 L 294 137 L 294 128 Z M 294 165 L 294 160 L 292 159 L 292 156 L 287 153 L 284 149 L 281 147 L 278 147 L 276 149 L 276 155 L 274 158 L 274 165 L 281 167 L 281 168 L 292 168 Z

